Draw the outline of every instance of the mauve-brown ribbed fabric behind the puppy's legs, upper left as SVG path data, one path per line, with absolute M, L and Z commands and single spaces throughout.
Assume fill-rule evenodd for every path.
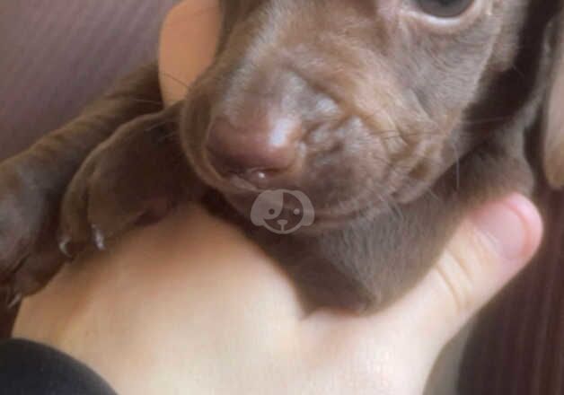
M 0 0 L 0 161 L 154 60 L 163 16 L 177 3 Z M 0 338 L 13 313 L 0 294 Z

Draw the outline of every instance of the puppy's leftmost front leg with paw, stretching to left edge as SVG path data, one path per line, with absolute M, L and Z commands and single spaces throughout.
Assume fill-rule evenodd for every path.
M 143 67 L 78 118 L 0 164 L 0 291 L 32 294 L 57 271 L 64 261 L 56 233 L 66 185 L 121 124 L 161 109 L 157 67 Z

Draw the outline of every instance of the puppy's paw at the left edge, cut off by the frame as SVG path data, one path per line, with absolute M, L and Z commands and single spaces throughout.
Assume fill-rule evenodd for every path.
M 57 191 L 22 154 L 0 165 L 0 288 L 14 303 L 33 294 L 64 262 L 57 250 Z M 56 184 L 56 183 L 54 183 Z

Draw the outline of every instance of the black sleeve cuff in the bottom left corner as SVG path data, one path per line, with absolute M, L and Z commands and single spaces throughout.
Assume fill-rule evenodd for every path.
M 0 343 L 3 395 L 114 395 L 85 364 L 57 350 L 25 340 Z

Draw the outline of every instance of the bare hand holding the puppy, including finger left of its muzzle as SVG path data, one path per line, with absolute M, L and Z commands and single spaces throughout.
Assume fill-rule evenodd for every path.
M 167 18 L 168 104 L 209 62 L 218 26 L 211 0 L 186 1 Z M 276 262 L 201 207 L 181 206 L 68 265 L 24 301 L 14 336 L 75 356 L 124 394 L 419 394 L 445 343 L 524 267 L 541 235 L 534 206 L 509 196 L 472 213 L 427 276 L 383 312 L 306 314 Z

